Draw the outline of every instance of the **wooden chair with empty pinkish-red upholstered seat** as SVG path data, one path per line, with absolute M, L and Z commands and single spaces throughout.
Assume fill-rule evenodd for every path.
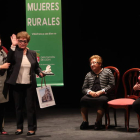
M 135 99 L 139 98 L 140 92 L 135 92 L 133 90 L 133 86 L 138 81 L 140 68 L 131 68 L 127 70 L 122 77 L 123 87 L 124 87 L 124 98 L 114 99 L 108 102 L 108 107 L 112 107 L 114 109 L 123 108 L 125 109 L 125 127 L 127 131 L 129 131 L 129 116 L 130 116 L 130 108 L 135 101 Z M 108 113 L 109 115 L 109 113 Z M 109 116 L 108 116 L 109 117 Z M 140 131 L 140 117 L 138 117 L 138 124 Z M 110 125 L 110 120 L 108 121 L 107 127 Z

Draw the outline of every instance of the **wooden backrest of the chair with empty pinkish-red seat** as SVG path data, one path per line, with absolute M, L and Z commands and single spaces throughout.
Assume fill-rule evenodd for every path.
M 122 77 L 125 98 L 137 99 L 140 97 L 140 91 L 134 91 L 133 86 L 138 82 L 140 68 L 131 68 L 127 70 Z

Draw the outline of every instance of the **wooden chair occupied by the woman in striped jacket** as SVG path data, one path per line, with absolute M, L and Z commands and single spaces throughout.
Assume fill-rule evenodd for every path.
M 117 93 L 118 93 L 119 82 L 120 82 L 120 72 L 114 66 L 107 66 L 105 68 L 110 69 L 112 71 L 113 75 L 114 75 L 114 78 L 115 78 L 115 89 L 113 90 L 114 92 L 112 92 L 112 94 L 109 95 L 109 98 L 110 99 L 116 99 L 117 98 Z M 117 126 L 116 109 L 113 109 L 113 111 L 114 111 L 115 126 Z M 108 109 L 105 110 L 105 126 L 106 126 L 106 129 L 108 128 L 107 120 L 108 120 L 108 125 L 109 125 L 110 124 L 110 118 L 109 118 L 109 111 L 108 111 Z

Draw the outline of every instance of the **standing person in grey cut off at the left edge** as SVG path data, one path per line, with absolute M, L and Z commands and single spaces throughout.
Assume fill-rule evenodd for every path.
M 3 88 L 4 82 L 7 76 L 6 69 L 9 68 L 10 63 L 5 63 L 7 60 L 7 49 L 2 46 L 0 37 L 0 133 L 2 135 L 7 135 L 8 133 L 4 130 L 4 112 L 5 105 L 9 101 L 9 96 L 4 95 Z

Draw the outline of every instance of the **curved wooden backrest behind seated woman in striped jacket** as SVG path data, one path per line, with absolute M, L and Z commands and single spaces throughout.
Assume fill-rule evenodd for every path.
M 113 97 L 111 97 L 112 99 L 116 99 L 117 98 L 117 92 L 118 92 L 118 87 L 119 87 L 119 82 L 120 82 L 120 71 L 114 67 L 114 66 L 107 66 L 104 68 L 108 68 L 112 71 L 114 78 L 115 78 L 115 89 L 114 89 L 114 93 L 113 93 Z

